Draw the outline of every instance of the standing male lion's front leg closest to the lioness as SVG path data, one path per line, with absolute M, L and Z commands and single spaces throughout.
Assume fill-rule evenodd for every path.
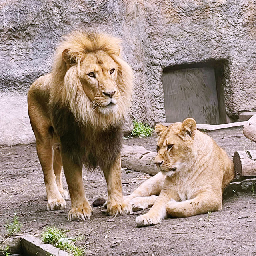
M 131 214 L 132 206 L 124 201 L 121 184 L 121 156 L 109 169 L 103 170 L 108 186 L 108 200 L 106 213 L 110 216 Z

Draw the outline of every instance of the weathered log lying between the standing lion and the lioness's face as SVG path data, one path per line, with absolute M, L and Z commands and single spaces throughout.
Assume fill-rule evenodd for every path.
M 146 150 L 142 146 L 124 145 L 122 151 L 122 168 L 155 175 L 158 169 L 154 164 L 156 152 Z

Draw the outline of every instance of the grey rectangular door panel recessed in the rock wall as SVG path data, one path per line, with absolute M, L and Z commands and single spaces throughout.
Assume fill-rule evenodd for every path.
M 197 64 L 164 70 L 166 122 L 182 122 L 187 117 L 198 124 L 226 122 L 222 79 L 217 69 L 216 64 Z

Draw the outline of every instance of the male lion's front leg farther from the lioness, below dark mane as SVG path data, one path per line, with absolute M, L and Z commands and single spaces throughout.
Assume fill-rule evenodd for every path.
M 86 220 L 92 215 L 92 207 L 85 196 L 82 166 L 75 164 L 67 154 L 61 152 L 64 174 L 71 198 L 68 220 Z

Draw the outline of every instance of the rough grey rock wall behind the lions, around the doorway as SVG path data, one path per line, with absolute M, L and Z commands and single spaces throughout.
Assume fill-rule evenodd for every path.
M 34 80 L 50 72 L 61 37 L 90 28 L 122 38 L 122 55 L 134 70 L 126 131 L 133 119 L 150 125 L 166 120 L 165 68 L 208 61 L 222 63 L 224 108 L 235 120 L 240 111 L 256 108 L 255 12 L 254 1 L 247 0 L 0 0 L 0 92 L 25 95 Z M 9 112 L 26 107 L 24 101 L 0 98 L 3 104 L 12 104 Z M 1 119 L 2 113 L 1 108 Z M 5 122 L 15 123 L 8 116 Z

